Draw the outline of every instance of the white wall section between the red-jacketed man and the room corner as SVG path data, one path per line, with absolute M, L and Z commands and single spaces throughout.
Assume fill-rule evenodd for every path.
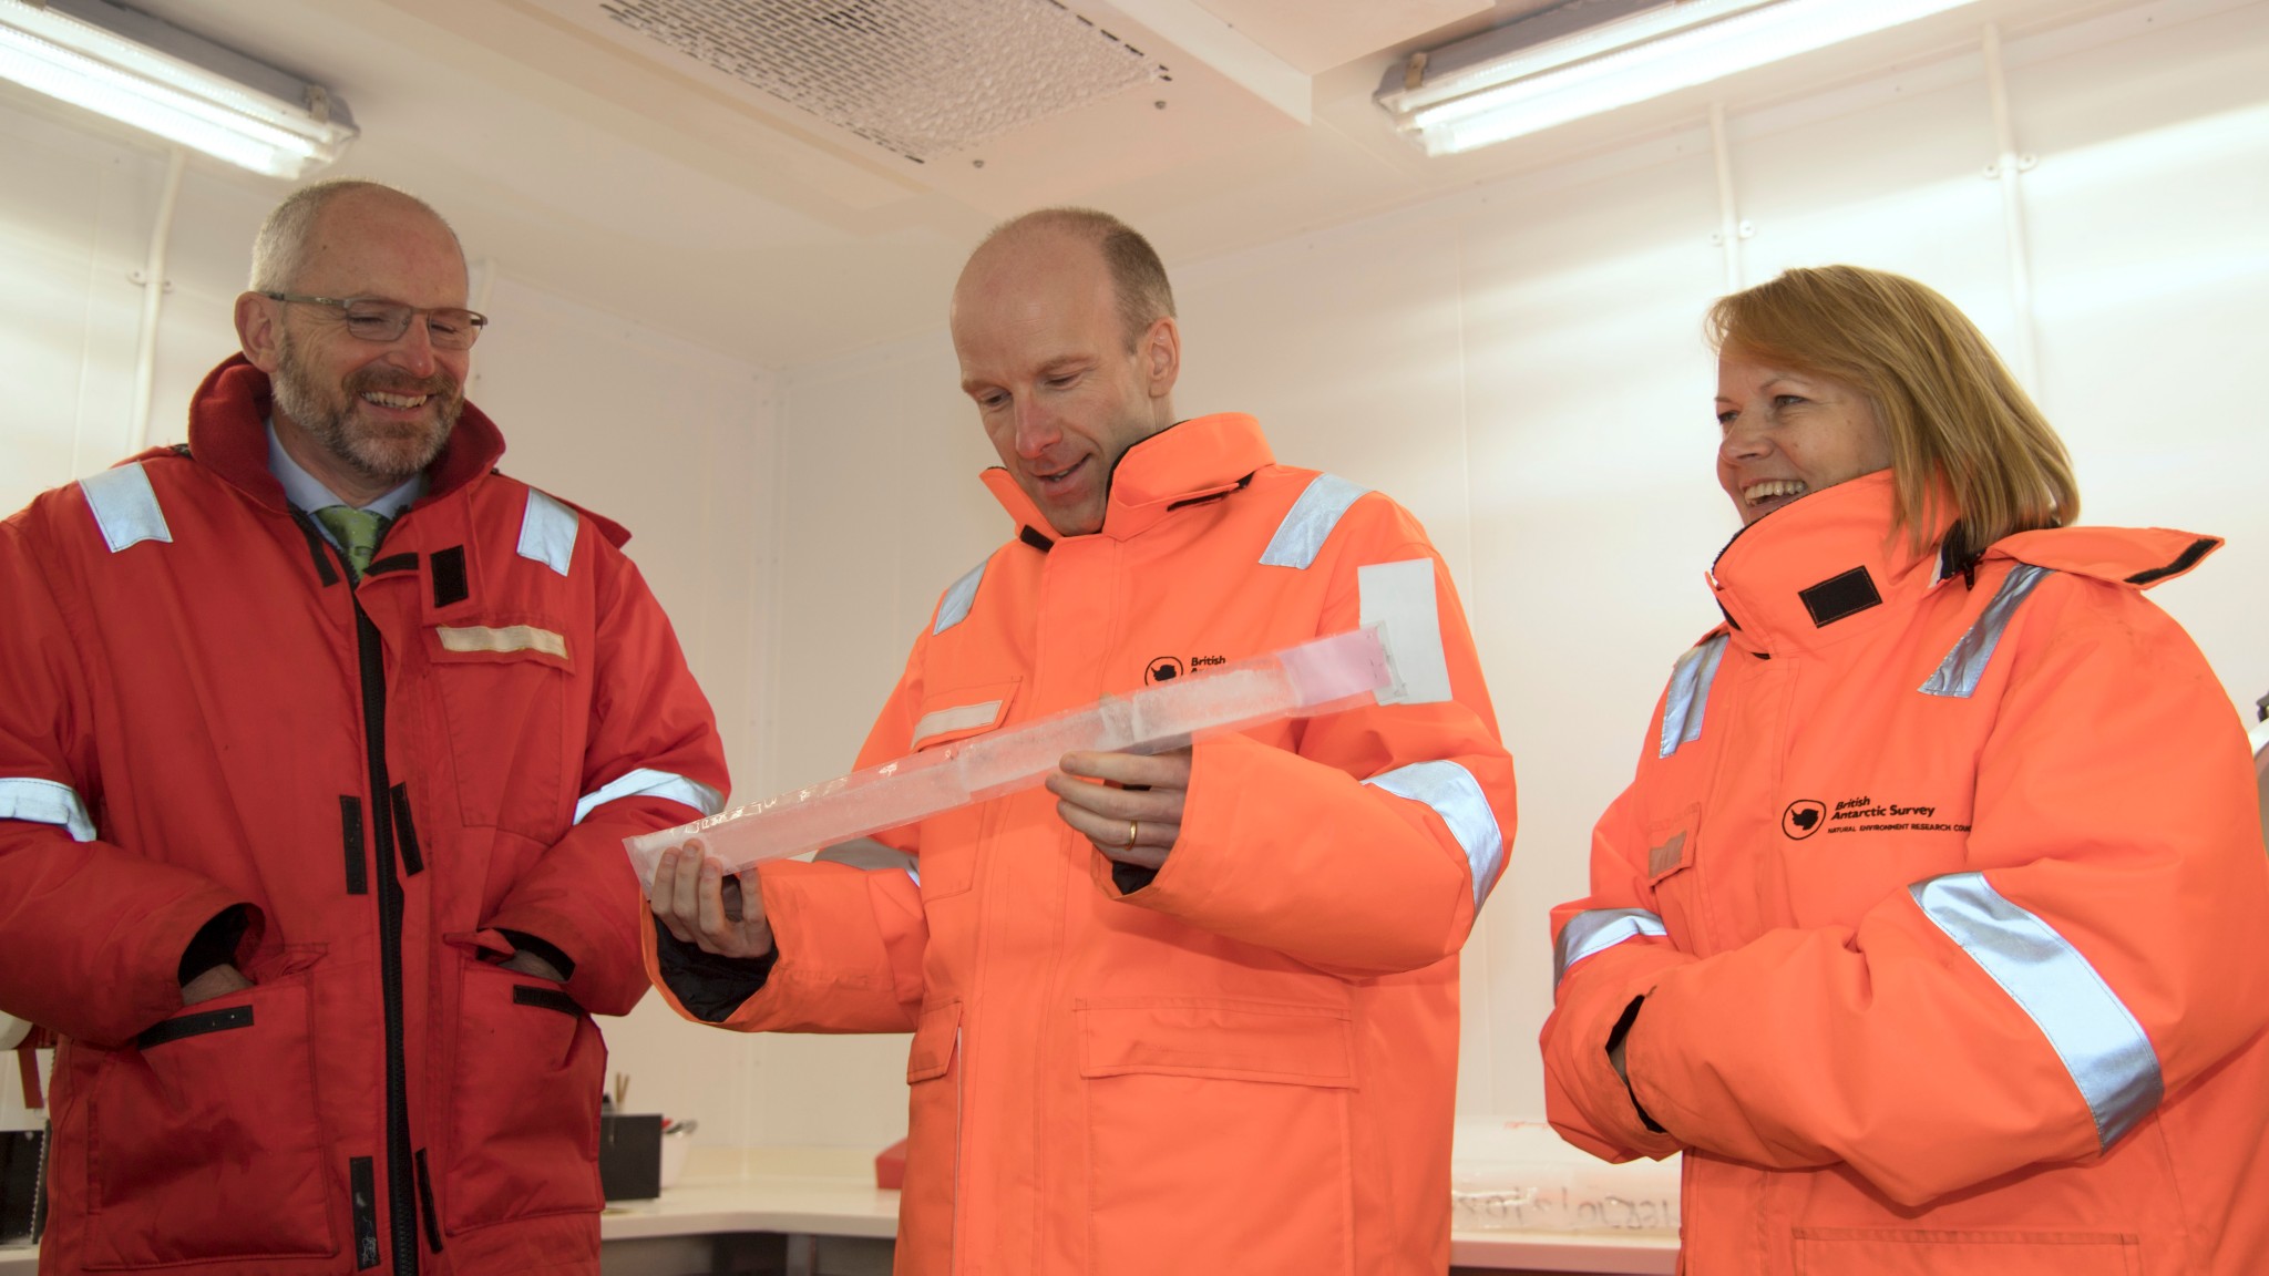
M 504 429 L 504 472 L 631 529 L 629 556 L 669 613 L 724 733 L 737 799 L 765 772 L 774 590 L 776 379 L 504 272 L 472 397 Z M 647 997 L 606 1019 L 629 1108 L 701 1122 L 703 1144 L 765 1142 L 765 1038 L 681 1019 Z

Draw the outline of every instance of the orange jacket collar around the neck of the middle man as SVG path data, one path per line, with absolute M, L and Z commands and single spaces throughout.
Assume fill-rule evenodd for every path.
M 1175 506 L 1237 490 L 1255 470 L 1273 465 L 1262 422 L 1246 413 L 1214 413 L 1171 425 L 1134 447 L 1128 447 L 1112 470 L 1112 495 L 1103 509 L 1103 531 L 1128 540 L 1157 527 Z M 1041 518 L 1032 497 L 1023 495 L 1007 470 L 994 465 L 980 475 L 1001 509 L 1017 520 L 1023 540 L 1041 545 L 1060 540 Z

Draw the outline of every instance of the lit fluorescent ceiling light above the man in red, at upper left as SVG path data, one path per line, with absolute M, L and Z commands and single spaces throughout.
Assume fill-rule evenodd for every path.
M 322 86 L 107 0 L 0 0 L 0 79 L 284 179 L 356 136 Z

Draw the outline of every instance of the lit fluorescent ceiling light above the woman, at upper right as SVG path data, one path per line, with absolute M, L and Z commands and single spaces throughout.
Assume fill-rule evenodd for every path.
M 1670 0 L 1495 57 L 1452 45 L 1434 54 L 1448 61 L 1439 73 L 1389 73 L 1377 102 L 1427 154 L 1457 154 L 1974 2 Z

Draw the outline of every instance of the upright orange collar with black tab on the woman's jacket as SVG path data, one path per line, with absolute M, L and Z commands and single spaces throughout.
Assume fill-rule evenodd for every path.
M 1833 647 L 1872 631 L 1940 584 L 1931 529 L 1917 554 L 1892 531 L 1890 470 L 1813 493 L 1752 522 L 1718 554 L 1709 586 L 1734 643 L 1765 654 Z

